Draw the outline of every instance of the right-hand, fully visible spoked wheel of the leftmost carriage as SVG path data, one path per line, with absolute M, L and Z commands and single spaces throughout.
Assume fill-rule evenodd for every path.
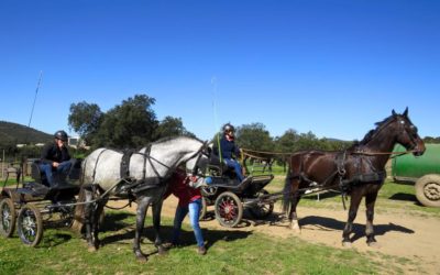
M 20 209 L 16 227 L 21 241 L 29 246 L 36 246 L 43 238 L 43 220 L 33 205 L 24 205 Z

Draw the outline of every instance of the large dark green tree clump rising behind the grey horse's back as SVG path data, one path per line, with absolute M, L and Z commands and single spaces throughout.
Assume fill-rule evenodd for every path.
M 155 99 L 135 95 L 107 112 L 85 101 L 70 105 L 68 124 L 92 147 L 142 147 L 161 138 L 190 135 L 180 118 L 158 121 L 153 110 Z

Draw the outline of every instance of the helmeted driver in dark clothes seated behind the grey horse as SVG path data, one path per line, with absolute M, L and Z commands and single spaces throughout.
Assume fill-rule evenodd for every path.
M 63 183 L 70 170 L 72 162 L 66 143 L 67 133 L 59 130 L 54 134 L 54 142 L 43 148 L 40 169 L 46 174 L 51 187 Z

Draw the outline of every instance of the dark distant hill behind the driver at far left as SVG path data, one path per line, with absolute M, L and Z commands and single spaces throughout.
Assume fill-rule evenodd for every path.
M 0 144 L 36 144 L 52 140 L 52 134 L 18 123 L 0 121 Z

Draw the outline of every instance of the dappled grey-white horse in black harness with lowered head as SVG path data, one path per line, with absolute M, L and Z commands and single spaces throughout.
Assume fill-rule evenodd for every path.
M 78 198 L 76 217 L 82 215 L 89 251 L 99 248 L 99 217 L 110 196 L 135 200 L 136 227 L 133 252 L 139 261 L 146 261 L 140 248 L 141 233 L 150 205 L 153 208 L 154 245 L 160 254 L 165 253 L 160 233 L 163 195 L 167 179 L 183 163 L 188 177 L 200 182 L 198 174 L 207 166 L 207 144 L 188 136 L 167 138 L 150 144 L 138 152 L 123 154 L 110 148 L 98 148 L 82 162 L 82 185 Z

